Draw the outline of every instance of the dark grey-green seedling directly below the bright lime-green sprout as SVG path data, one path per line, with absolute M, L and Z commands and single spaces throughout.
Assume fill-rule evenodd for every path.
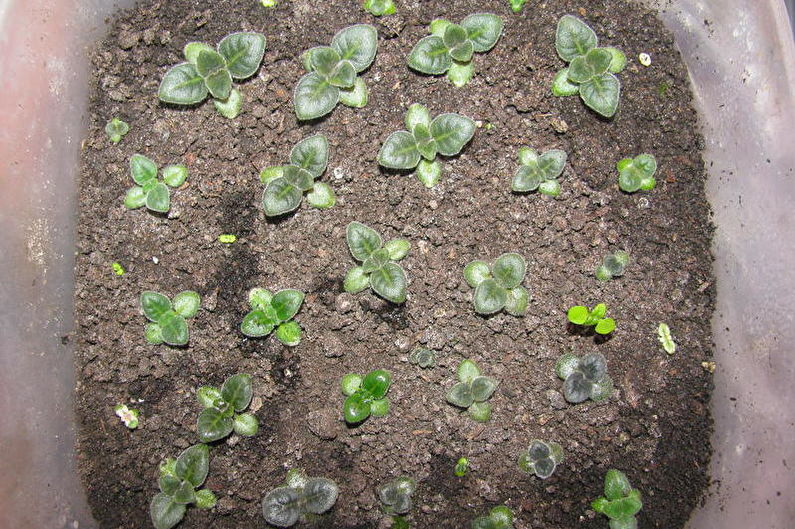
M 563 379 L 563 396 L 572 404 L 591 399 L 604 400 L 613 393 L 613 380 L 607 374 L 607 360 L 600 353 L 578 357 L 566 353 L 555 364 L 555 373 Z

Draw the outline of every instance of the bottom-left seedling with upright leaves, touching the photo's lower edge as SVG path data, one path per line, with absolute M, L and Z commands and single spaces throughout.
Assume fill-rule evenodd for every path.
M 171 529 L 185 516 L 188 505 L 212 509 L 215 494 L 199 489 L 210 469 L 210 449 L 205 444 L 187 448 L 177 459 L 169 457 L 160 463 L 160 492 L 152 498 L 149 515 L 155 529 Z

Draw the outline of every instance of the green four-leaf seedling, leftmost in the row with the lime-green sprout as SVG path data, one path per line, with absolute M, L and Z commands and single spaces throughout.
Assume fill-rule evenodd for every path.
M 145 290 L 141 292 L 141 310 L 151 322 L 146 325 L 146 341 L 158 345 L 185 345 L 188 343 L 188 320 L 196 315 L 201 305 L 199 294 L 192 290 L 180 292 L 172 302 L 163 294 Z

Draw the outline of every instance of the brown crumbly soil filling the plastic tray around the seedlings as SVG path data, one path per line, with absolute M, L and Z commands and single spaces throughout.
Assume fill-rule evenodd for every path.
M 314 527 L 388 527 L 374 489 L 408 474 L 420 484 L 413 527 L 469 527 L 505 503 L 518 529 L 604 528 L 607 519 L 590 502 L 609 468 L 624 470 L 641 490 L 641 527 L 682 527 L 708 483 L 712 381 L 702 362 L 712 354 L 715 289 L 703 139 L 673 38 L 652 12 L 623 0 L 548 0 L 529 3 L 520 15 L 504 0 L 408 1 L 382 19 L 359 4 L 296 0 L 264 9 L 253 0 L 146 0 L 122 12 L 94 50 L 80 181 L 77 400 L 79 464 L 100 526 L 151 526 L 159 461 L 197 442 L 195 389 L 247 372 L 260 432 L 212 446 L 207 486 L 218 505 L 189 509 L 180 527 L 266 527 L 261 498 L 296 466 L 340 485 L 336 506 Z M 458 21 L 477 11 L 501 15 L 505 31 L 491 52 L 476 56 L 469 85 L 457 89 L 407 69 L 406 55 L 432 19 Z M 600 119 L 579 98 L 550 94 L 563 67 L 555 25 L 566 13 L 584 18 L 602 43 L 630 59 L 619 75 L 613 120 Z M 369 104 L 338 106 L 299 124 L 291 101 L 303 74 L 298 54 L 358 22 L 379 32 L 378 55 L 363 74 Z M 238 85 L 245 105 L 237 119 L 221 117 L 210 102 L 158 102 L 160 79 L 182 60 L 186 42 L 215 43 L 239 30 L 261 31 L 268 41 L 258 75 Z M 651 55 L 650 67 L 638 63 L 640 52 Z M 483 124 L 459 156 L 444 160 L 433 190 L 375 160 L 414 102 L 434 115 L 454 111 Z M 130 124 L 118 145 L 103 132 L 112 117 Z M 267 219 L 259 170 L 284 163 L 297 141 L 315 133 L 331 145 L 322 179 L 337 206 L 320 211 L 304 200 L 294 214 Z M 557 199 L 511 193 L 523 145 L 569 154 Z M 657 157 L 657 188 L 622 193 L 615 164 L 641 152 Z M 188 166 L 168 215 L 123 207 L 133 153 L 160 166 Z M 352 220 L 411 241 L 405 305 L 369 291 L 342 292 L 355 264 L 344 237 Z M 237 242 L 219 243 L 224 233 Z M 597 281 L 596 267 L 617 249 L 631 255 L 626 275 Z M 528 260 L 529 313 L 483 318 L 462 269 L 506 251 Z M 124 266 L 123 276 L 113 274 L 113 262 Z M 254 286 L 307 293 L 298 347 L 240 333 Z M 202 295 L 188 347 L 145 342 L 138 307 L 145 289 Z M 610 339 L 567 328 L 568 307 L 598 302 L 618 322 Z M 657 341 L 659 322 L 678 343 L 671 356 Z M 408 361 L 420 345 L 438 352 L 435 368 Z M 566 351 L 603 353 L 615 394 L 598 404 L 566 404 L 554 374 Z M 487 424 L 445 402 L 464 358 L 500 381 Z M 376 367 L 392 372 L 391 411 L 346 427 L 340 377 Z M 137 430 L 114 415 L 122 402 L 141 410 Z M 533 438 L 565 450 L 565 462 L 546 481 L 516 465 Z M 461 456 L 471 472 L 456 478 Z

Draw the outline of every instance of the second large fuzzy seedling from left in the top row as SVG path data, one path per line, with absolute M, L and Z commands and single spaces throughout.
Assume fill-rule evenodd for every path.
M 295 115 L 301 121 L 325 116 L 342 103 L 361 108 L 367 105 L 367 85 L 358 74 L 372 64 L 378 49 L 378 32 L 369 24 L 340 30 L 331 46 L 310 48 L 301 56 L 307 73 L 293 94 Z

